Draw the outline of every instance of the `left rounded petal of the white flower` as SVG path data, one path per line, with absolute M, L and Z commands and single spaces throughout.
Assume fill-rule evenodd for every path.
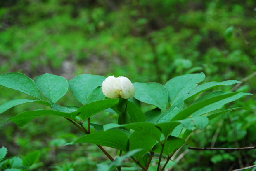
M 115 76 L 109 76 L 102 83 L 102 92 L 109 99 L 116 99 L 116 98 L 120 97 L 120 95 L 115 92 L 115 89 L 113 86 L 115 80 L 116 80 Z

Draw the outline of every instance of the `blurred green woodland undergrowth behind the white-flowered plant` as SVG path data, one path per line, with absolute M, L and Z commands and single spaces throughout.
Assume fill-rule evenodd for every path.
M 241 80 L 256 71 L 255 36 L 255 0 L 1 0 L 0 74 L 21 72 L 33 79 L 48 72 L 67 80 L 80 74 L 115 75 L 132 82 L 165 84 L 175 76 L 204 72 L 204 83 Z M 235 90 L 255 94 L 253 76 Z M 0 88 L 0 104 L 17 98 L 31 99 Z M 256 109 L 254 99 L 244 97 L 224 108 Z M 81 106 L 71 91 L 58 104 Z M 7 157 L 40 150 L 34 168 L 44 171 L 94 171 L 95 164 L 108 162 L 94 145 L 62 146 L 83 135 L 62 118 L 42 116 L 24 127 L 6 122 L 38 108 L 46 109 L 22 104 L 1 114 L 0 147 L 8 148 Z M 148 106 L 142 105 L 142 110 Z M 107 124 L 116 119 L 103 112 L 91 122 Z M 168 170 L 227 171 L 253 165 L 256 150 L 186 149 L 255 146 L 255 130 L 254 112 L 229 112 L 204 131 L 194 132 L 174 158 L 177 164 L 171 162 Z

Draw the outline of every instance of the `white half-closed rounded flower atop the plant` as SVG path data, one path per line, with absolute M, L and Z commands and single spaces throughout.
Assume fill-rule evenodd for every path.
M 126 77 L 109 76 L 102 83 L 102 92 L 109 99 L 121 97 L 123 99 L 131 99 L 135 95 L 133 83 Z

